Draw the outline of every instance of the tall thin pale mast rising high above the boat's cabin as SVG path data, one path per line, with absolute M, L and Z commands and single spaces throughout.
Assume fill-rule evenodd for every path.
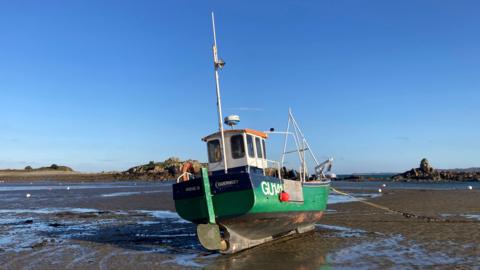
M 225 65 L 225 62 L 219 59 L 217 55 L 217 35 L 215 33 L 215 16 L 213 12 L 212 12 L 212 27 L 213 27 L 213 66 L 215 68 L 215 83 L 217 88 L 218 128 L 220 129 L 220 134 L 222 136 L 223 165 L 225 168 L 225 173 L 228 173 L 227 153 L 225 151 L 225 134 L 223 131 L 222 99 L 220 98 L 220 81 L 218 78 L 218 69 L 223 68 L 223 66 Z

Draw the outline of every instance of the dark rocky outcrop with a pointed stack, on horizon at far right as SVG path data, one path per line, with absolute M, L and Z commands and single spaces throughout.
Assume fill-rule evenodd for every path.
M 420 161 L 420 167 L 413 168 L 392 177 L 394 181 L 480 181 L 480 171 L 433 169 L 426 158 Z

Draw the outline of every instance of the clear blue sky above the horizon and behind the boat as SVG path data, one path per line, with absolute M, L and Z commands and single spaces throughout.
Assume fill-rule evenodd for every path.
M 0 1 L 0 168 L 206 160 L 225 114 L 337 173 L 480 166 L 478 1 Z M 272 138 L 277 158 L 280 138 Z

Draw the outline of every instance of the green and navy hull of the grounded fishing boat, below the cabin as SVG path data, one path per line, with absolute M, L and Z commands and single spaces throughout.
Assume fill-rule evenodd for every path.
M 285 181 L 288 180 L 248 173 L 210 177 L 215 222 L 227 241 L 222 252 L 233 253 L 313 229 L 326 209 L 329 183 L 296 182 L 297 189 L 290 191 L 293 199 L 281 201 Z M 194 179 L 174 185 L 175 207 L 182 218 L 207 224 L 209 206 L 201 183 L 202 179 Z

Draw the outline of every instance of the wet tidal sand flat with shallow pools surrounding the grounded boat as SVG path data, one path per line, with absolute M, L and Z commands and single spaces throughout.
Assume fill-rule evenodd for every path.
M 351 191 L 450 222 L 337 203 L 314 232 L 219 255 L 174 213 L 169 183 L 0 184 L 0 268 L 480 269 L 479 190 L 384 190 Z

